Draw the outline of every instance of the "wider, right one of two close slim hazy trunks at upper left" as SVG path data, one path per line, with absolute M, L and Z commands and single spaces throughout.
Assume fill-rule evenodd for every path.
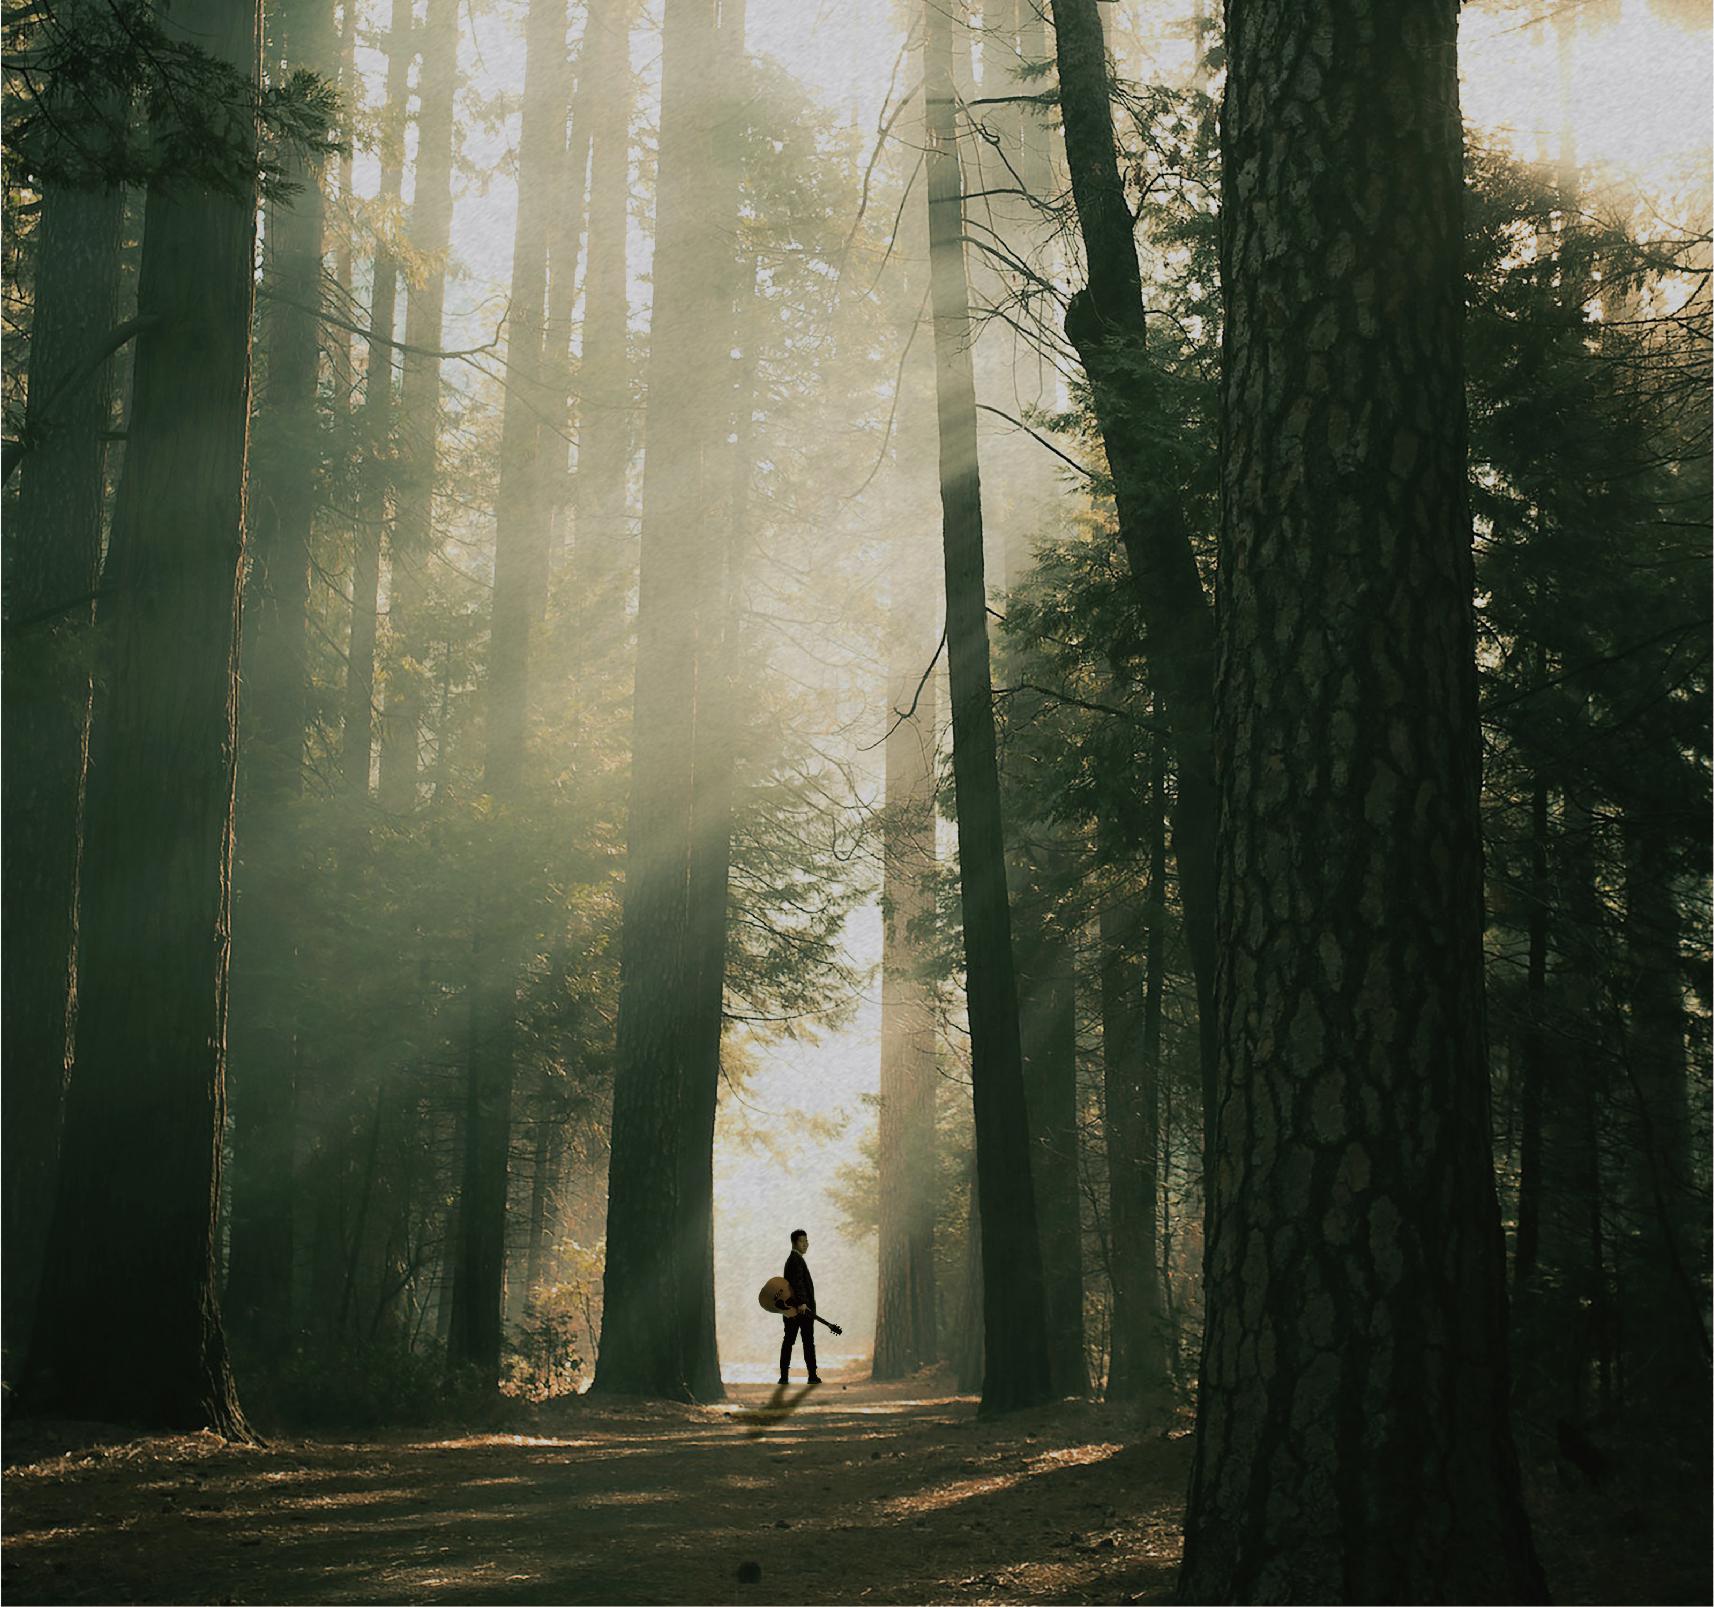
M 418 747 L 423 725 L 420 636 L 423 564 L 435 550 L 434 478 L 440 437 L 440 348 L 446 308 L 446 254 L 452 238 L 452 101 L 458 94 L 458 0 L 428 0 L 423 19 L 417 115 L 417 180 L 411 194 L 411 248 L 428 260 L 405 302 L 405 375 L 399 382 L 398 490 L 389 543 L 387 632 L 391 661 L 381 723 L 381 807 L 417 807 Z

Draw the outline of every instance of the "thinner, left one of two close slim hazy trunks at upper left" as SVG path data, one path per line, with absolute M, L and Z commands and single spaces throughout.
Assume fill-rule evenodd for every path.
M 381 207 L 398 206 L 405 190 L 405 113 L 415 57 L 411 3 L 393 0 L 387 39 L 387 103 L 381 111 Z M 399 303 L 399 264 L 384 242 L 375 245 L 375 283 L 369 302 L 369 360 L 363 375 L 363 476 L 357 529 L 351 533 L 351 636 L 345 666 L 345 790 L 369 795 L 375 735 L 375 636 L 381 605 L 381 547 L 393 500 L 393 327 Z

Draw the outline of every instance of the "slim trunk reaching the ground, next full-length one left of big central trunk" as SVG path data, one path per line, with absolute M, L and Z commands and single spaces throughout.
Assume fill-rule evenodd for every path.
M 488 646 L 485 783 L 502 809 L 519 802 L 530 706 L 530 636 L 547 588 L 547 511 L 540 499 L 542 324 L 547 312 L 548 190 L 560 154 L 566 0 L 530 0 L 524 105 L 518 139 L 518 228 L 512 240 L 509 389 L 500 439 L 494 630 Z M 497 906 L 500 877 L 478 896 L 464 1100 L 463 1259 L 454 1353 L 497 1377 L 506 1280 L 506 1158 L 512 1126 L 518 911 Z

